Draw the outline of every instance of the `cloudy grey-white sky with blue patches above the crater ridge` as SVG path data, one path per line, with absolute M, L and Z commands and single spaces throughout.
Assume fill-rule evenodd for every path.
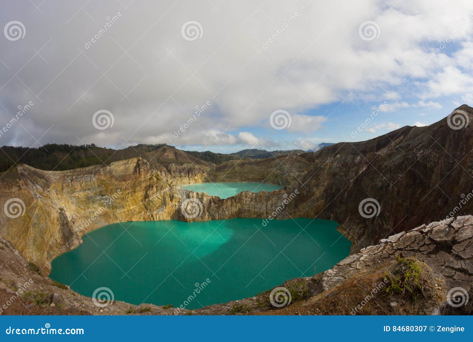
M 2 0 L 0 145 L 310 149 L 473 105 L 471 0 Z

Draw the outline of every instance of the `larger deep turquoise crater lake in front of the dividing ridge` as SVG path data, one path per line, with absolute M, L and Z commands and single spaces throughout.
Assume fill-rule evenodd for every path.
M 82 245 L 54 259 L 50 278 L 89 297 L 107 287 L 115 300 L 195 309 L 312 276 L 314 267 L 323 272 L 350 253 L 351 243 L 334 221 L 271 220 L 266 227 L 262 222 L 111 224 L 89 232 Z

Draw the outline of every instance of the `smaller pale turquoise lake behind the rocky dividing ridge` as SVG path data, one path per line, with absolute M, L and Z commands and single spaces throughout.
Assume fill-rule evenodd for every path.
M 276 184 L 264 183 L 201 183 L 182 186 L 183 189 L 192 190 L 196 193 L 207 193 L 210 196 L 228 198 L 235 196 L 242 191 L 258 193 L 260 191 L 274 191 L 283 187 Z

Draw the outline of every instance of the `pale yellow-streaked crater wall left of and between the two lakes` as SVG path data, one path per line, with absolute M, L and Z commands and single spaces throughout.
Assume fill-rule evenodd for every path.
M 11 241 L 28 261 L 50 270 L 51 261 L 79 246 L 84 234 L 110 223 L 263 218 L 284 200 L 284 190 L 273 192 L 272 196 L 244 192 L 222 200 L 180 188 L 210 181 L 207 169 L 190 163 L 164 166 L 153 162 L 150 166 L 143 158 L 68 171 L 43 171 L 20 165 L 1 177 L 0 204 L 18 199 L 25 204 L 25 210 L 19 202 L 21 214 L 11 218 L 7 215 L 9 208 L 1 208 L 0 235 Z M 238 179 L 238 173 L 232 170 L 232 179 Z M 274 173 L 276 176 L 281 177 L 279 172 Z M 187 219 L 181 211 L 182 202 L 189 197 L 202 203 L 201 215 L 193 219 Z

